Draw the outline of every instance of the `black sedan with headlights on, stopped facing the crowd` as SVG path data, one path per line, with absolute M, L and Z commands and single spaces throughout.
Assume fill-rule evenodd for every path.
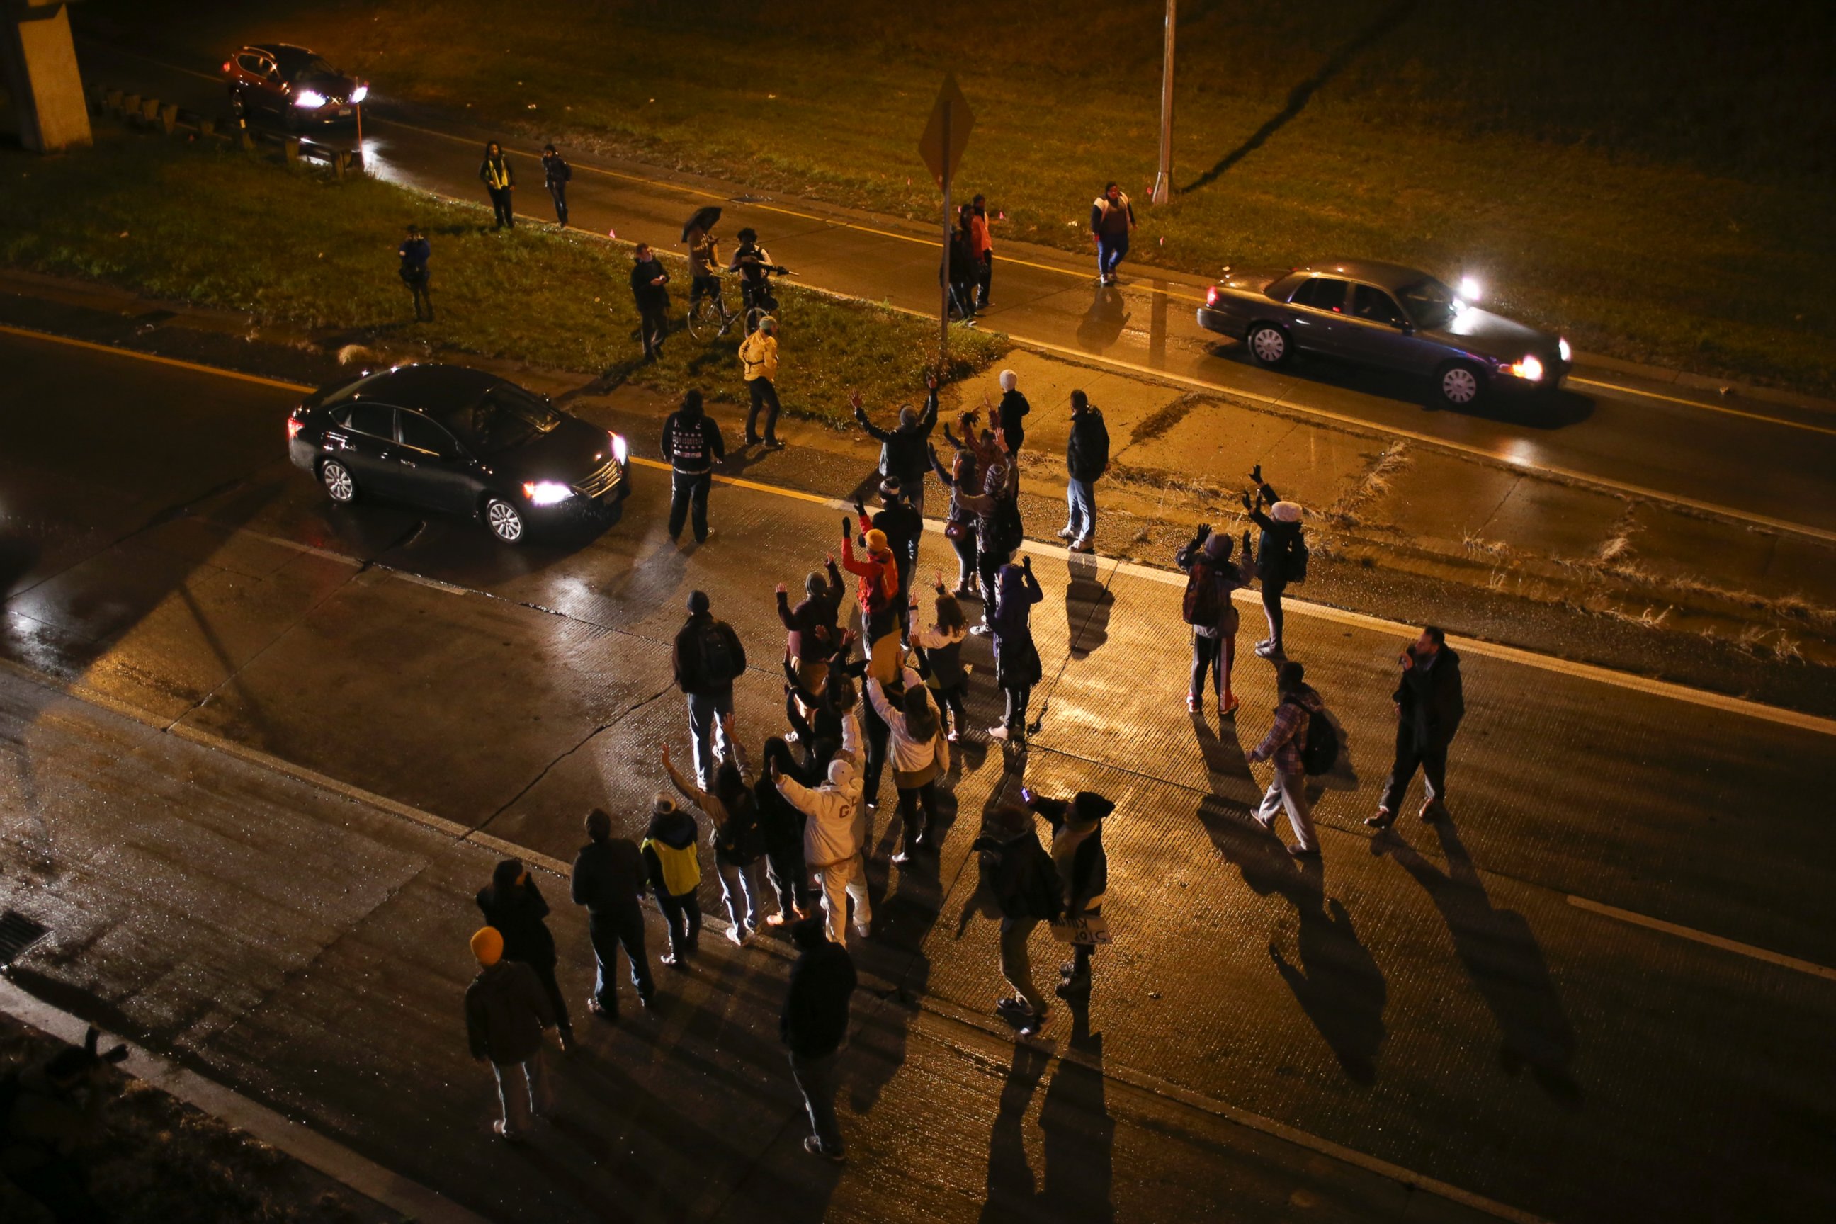
M 286 451 L 332 501 L 468 514 L 503 543 L 610 514 L 632 492 L 622 435 L 465 365 L 395 365 L 319 387 L 288 415 Z

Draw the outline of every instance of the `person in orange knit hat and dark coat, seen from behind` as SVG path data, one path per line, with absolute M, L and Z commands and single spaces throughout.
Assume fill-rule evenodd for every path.
M 549 995 L 536 971 L 503 958 L 503 936 L 485 927 L 472 936 L 477 976 L 465 987 L 465 1031 L 472 1057 L 490 1063 L 498 1077 L 503 1118 L 490 1123 L 512 1143 L 523 1138 L 531 1118 L 547 1110 L 542 1075 L 542 1029 L 554 1028 Z

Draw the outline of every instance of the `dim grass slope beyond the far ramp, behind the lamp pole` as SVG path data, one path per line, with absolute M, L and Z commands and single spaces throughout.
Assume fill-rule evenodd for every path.
M 173 2 L 97 0 L 79 20 L 158 37 Z M 1394 259 L 1471 273 L 1489 305 L 1595 352 L 1836 389 L 1836 24 L 1808 0 L 1764 29 L 1709 0 L 1188 6 L 1188 189 L 1162 207 L 1146 206 L 1155 13 L 933 9 L 554 0 L 531 20 L 485 0 L 285 0 L 185 4 L 184 28 L 213 48 L 285 33 L 384 99 L 924 218 L 914 145 L 955 70 L 977 116 L 958 189 L 1006 213 L 997 248 L 1089 250 L 1114 178 L 1142 215 L 1135 262 Z

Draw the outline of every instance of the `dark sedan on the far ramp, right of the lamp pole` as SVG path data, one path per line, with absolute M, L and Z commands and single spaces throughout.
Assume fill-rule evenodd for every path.
M 1261 365 L 1300 351 L 1419 374 L 1450 407 L 1495 389 L 1553 396 L 1568 374 L 1568 341 L 1471 297 L 1427 272 L 1364 259 L 1225 268 L 1199 306 L 1199 327 L 1241 339 Z

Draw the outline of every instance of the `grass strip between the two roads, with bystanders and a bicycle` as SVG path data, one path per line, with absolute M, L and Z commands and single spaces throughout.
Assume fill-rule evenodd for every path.
M 351 341 L 428 343 L 446 354 L 628 376 L 663 391 L 700 387 L 744 400 L 738 334 L 701 343 L 672 334 L 663 360 L 639 362 L 630 250 L 578 231 L 520 224 L 494 233 L 479 207 L 442 204 L 369 178 L 338 184 L 272 158 L 127 136 L 99 121 L 95 149 L 17 156 L 0 193 L 0 261 L 75 273 L 156 297 L 252 310 Z M 433 244 L 433 323 L 413 323 L 397 275 L 402 228 Z M 679 323 L 681 262 L 666 262 Z M 936 330 L 878 306 L 778 288 L 784 409 L 848 420 L 846 398 L 922 395 Z M 729 294 L 729 305 L 738 305 Z M 999 336 L 951 338 L 964 376 L 1006 351 Z

